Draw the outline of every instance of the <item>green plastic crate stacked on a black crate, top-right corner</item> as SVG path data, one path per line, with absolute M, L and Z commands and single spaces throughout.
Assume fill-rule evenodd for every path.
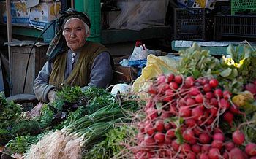
M 231 0 L 231 15 L 247 10 L 256 12 L 256 0 Z

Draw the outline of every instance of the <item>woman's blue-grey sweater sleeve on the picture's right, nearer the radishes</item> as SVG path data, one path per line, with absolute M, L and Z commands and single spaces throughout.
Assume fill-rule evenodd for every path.
M 91 67 L 89 86 L 107 88 L 113 79 L 113 69 L 108 52 L 102 52 L 94 59 Z

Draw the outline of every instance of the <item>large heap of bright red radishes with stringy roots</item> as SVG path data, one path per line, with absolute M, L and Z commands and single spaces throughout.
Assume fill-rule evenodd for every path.
M 157 77 L 148 88 L 146 118 L 138 123 L 135 158 L 256 158 L 256 144 L 241 150 L 243 132 L 237 129 L 230 139 L 219 128 L 219 121 L 232 126 L 234 115 L 243 113 L 218 84 L 210 77 Z

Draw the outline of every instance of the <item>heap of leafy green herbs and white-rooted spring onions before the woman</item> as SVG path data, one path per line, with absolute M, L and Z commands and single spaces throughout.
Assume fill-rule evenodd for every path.
M 82 91 L 79 87 L 67 87 L 58 91 L 57 96 L 58 100 L 45 104 L 42 115 L 34 118 L 23 112 L 20 105 L 2 98 L 3 106 L 8 108 L 2 112 L 13 109 L 12 113 L 9 111 L 10 117 L 3 120 L 10 123 L 1 134 L 3 139 L 8 136 L 1 140 L 6 152 L 18 152 L 25 158 L 81 158 L 94 144 L 103 141 L 108 131 L 116 128 L 116 123 L 128 122 L 129 111 L 138 109 L 136 101 L 117 100 L 108 90 L 100 88 Z M 20 122 L 23 120 L 26 123 Z M 10 130 L 17 131 L 9 131 L 7 126 L 14 122 L 18 126 Z M 10 132 L 15 133 L 10 136 Z

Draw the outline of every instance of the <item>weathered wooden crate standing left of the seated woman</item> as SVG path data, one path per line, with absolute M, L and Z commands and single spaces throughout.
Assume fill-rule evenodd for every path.
M 24 93 L 34 94 L 33 84 L 38 72 L 46 62 L 46 51 L 48 45 L 34 47 L 31 51 L 29 67 L 26 77 Z M 12 95 L 23 93 L 23 83 L 25 80 L 26 65 L 29 58 L 31 47 L 11 47 L 12 52 Z

